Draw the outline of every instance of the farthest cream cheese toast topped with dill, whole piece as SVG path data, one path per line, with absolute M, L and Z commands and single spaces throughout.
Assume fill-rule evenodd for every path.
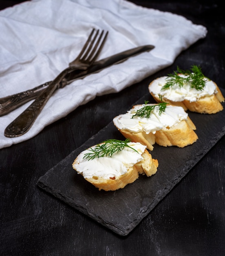
M 199 66 L 191 71 L 181 70 L 153 80 L 149 92 L 157 102 L 168 102 L 183 109 L 202 114 L 214 114 L 223 110 L 224 97 L 215 82 L 205 77 Z M 161 98 L 160 98 L 161 97 Z

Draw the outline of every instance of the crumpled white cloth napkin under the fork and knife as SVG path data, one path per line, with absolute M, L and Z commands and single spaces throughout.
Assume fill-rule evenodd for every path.
M 31 129 L 15 138 L 4 129 L 31 102 L 0 117 L 0 148 L 37 135 L 97 95 L 119 92 L 171 65 L 207 29 L 173 13 L 126 0 L 31 0 L 0 11 L 0 97 L 51 81 L 77 57 L 91 29 L 108 30 L 98 59 L 141 46 L 146 53 L 55 91 Z M 147 86 L 147 85 L 146 85 Z

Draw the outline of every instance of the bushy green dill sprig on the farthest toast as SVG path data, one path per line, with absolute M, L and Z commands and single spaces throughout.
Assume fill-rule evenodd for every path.
M 184 74 L 185 77 L 179 74 Z M 185 83 L 190 83 L 191 88 L 195 88 L 196 90 L 203 90 L 207 77 L 203 75 L 201 67 L 193 65 L 191 70 L 181 70 L 177 67 L 177 72 L 174 71 L 174 74 L 168 74 L 166 80 L 167 82 L 161 90 L 165 90 L 173 85 L 179 85 L 181 88 Z

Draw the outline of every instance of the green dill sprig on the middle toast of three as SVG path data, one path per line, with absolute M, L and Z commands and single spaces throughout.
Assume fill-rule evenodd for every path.
M 160 100 L 162 101 L 162 96 L 159 95 Z M 161 116 L 162 112 L 165 111 L 166 105 L 168 104 L 167 102 L 160 102 L 158 104 L 154 105 L 147 105 L 149 101 L 145 101 L 145 106 L 143 108 L 140 108 L 137 110 L 137 112 L 132 115 L 131 118 L 134 118 L 135 116 L 137 117 L 146 117 L 149 118 L 152 110 L 157 109 L 159 111 L 159 115 Z

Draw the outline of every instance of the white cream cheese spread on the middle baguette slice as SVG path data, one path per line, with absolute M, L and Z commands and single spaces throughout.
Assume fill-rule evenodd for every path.
M 155 105 L 155 104 L 147 104 Z M 119 115 L 113 119 L 113 123 L 120 130 L 128 130 L 130 132 L 146 132 L 146 134 L 152 132 L 153 134 L 157 130 L 161 130 L 166 127 L 172 127 L 173 125 L 179 123 L 182 120 L 187 120 L 188 114 L 183 110 L 182 107 L 168 105 L 165 108 L 165 111 L 161 112 L 157 108 L 154 108 L 150 113 L 150 117 L 138 117 L 132 116 L 146 105 L 137 105 L 134 106 L 124 115 Z

